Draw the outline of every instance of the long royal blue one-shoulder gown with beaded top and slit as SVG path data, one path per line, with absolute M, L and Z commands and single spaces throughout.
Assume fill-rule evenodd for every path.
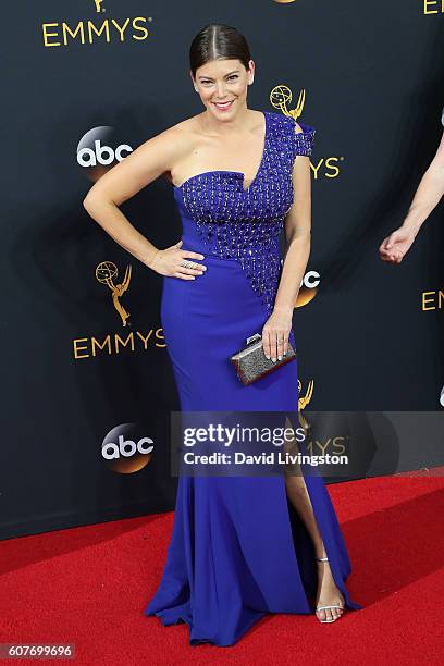
M 161 321 L 182 411 L 297 412 L 297 361 L 244 386 L 229 356 L 261 332 L 272 312 L 282 262 L 279 236 L 293 199 L 297 155 L 311 155 L 314 130 L 264 112 L 266 141 L 252 183 L 208 171 L 174 187 L 181 249 L 201 252 L 196 280 L 165 278 Z M 289 340 L 296 348 L 294 332 Z M 320 477 L 305 478 L 330 566 L 346 606 L 350 563 Z M 267 613 L 313 613 L 317 565 L 311 540 L 287 499 L 285 479 L 178 479 L 162 579 L 144 614 L 187 622 L 192 645 L 235 643 Z

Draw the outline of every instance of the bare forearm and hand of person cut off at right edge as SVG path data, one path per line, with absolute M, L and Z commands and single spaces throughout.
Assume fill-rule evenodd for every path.
M 444 109 L 441 114 L 441 124 L 444 125 Z M 383 261 L 400 263 L 410 249 L 422 224 L 436 208 L 444 194 L 444 132 L 436 153 L 423 174 L 408 213 L 399 226 L 384 238 L 379 247 Z

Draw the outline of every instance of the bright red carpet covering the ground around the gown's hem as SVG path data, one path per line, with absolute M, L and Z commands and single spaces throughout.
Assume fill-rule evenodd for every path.
M 442 664 L 444 478 L 329 489 L 354 564 L 350 593 L 365 605 L 333 625 L 270 615 L 236 645 L 192 648 L 186 625 L 145 617 L 169 513 L 0 542 L 0 642 L 75 643 L 77 666 Z

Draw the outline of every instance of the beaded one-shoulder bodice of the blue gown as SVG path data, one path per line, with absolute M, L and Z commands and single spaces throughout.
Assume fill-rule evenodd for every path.
M 293 200 L 293 163 L 310 156 L 314 130 L 292 116 L 263 112 L 266 140 L 258 172 L 244 189 L 237 171 L 207 171 L 187 178 L 174 195 L 185 227 L 193 223 L 201 244 L 188 235 L 183 249 L 239 262 L 266 313 L 273 309 L 281 272 L 279 237 Z M 186 230 L 185 230 L 186 231 Z

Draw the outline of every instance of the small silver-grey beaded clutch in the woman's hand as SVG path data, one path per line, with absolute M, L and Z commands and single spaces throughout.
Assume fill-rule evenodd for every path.
M 288 349 L 281 360 L 273 362 L 263 354 L 262 338 L 260 333 L 255 333 L 247 337 L 247 345 L 230 357 L 231 362 L 236 369 L 237 377 L 245 386 L 258 379 L 262 379 L 270 372 L 278 370 L 296 358 L 292 343 L 288 341 Z

